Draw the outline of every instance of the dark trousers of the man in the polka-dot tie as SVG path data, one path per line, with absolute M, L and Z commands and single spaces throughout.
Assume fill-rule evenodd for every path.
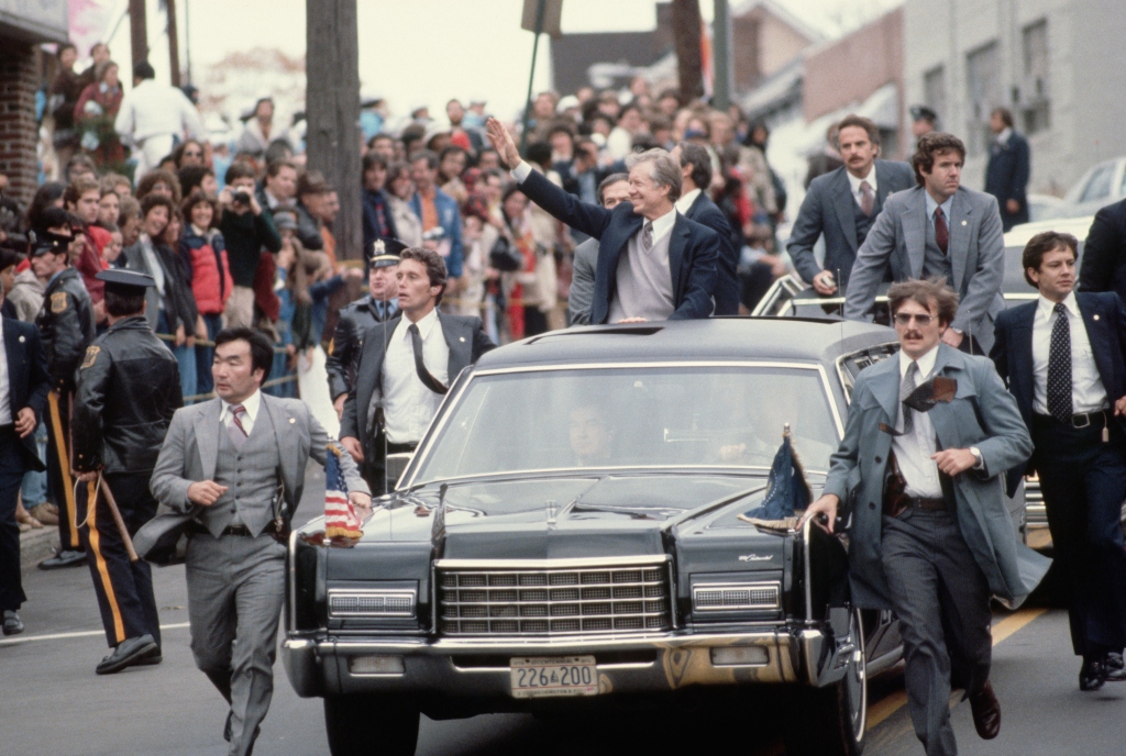
M 1069 585 L 1071 642 L 1076 655 L 1126 646 L 1126 551 L 1119 524 L 1126 498 L 1126 435 L 1111 418 L 1072 428 L 1035 415 L 1036 470 L 1056 562 Z

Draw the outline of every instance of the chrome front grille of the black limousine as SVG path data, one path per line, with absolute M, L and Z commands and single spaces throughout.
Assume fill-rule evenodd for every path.
M 672 627 L 664 562 L 543 569 L 494 565 L 488 569 L 439 565 L 436 584 L 441 634 L 549 636 Z

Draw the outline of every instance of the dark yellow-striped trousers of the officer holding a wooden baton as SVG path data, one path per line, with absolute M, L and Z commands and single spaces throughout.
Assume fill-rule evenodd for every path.
M 125 522 L 125 530 L 132 538 L 141 525 L 157 516 L 157 500 L 149 490 L 149 474 L 107 475 L 105 483 Z M 138 638 L 145 633 L 160 645 L 160 618 L 157 615 L 157 596 L 152 590 L 152 567 L 144 559 L 129 561 L 109 503 L 104 493 L 95 500 L 97 480 L 79 488 L 78 510 L 86 560 L 93 577 L 93 591 L 98 595 L 101 624 L 106 629 L 106 642 L 116 647 L 126 638 Z M 90 507 L 90 502 L 97 505 Z

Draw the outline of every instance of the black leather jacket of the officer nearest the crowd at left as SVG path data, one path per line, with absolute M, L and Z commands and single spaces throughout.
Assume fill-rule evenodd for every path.
M 74 371 L 97 331 L 93 303 L 82 284 L 82 273 L 66 268 L 47 284 L 35 324 L 39 326 L 51 388 L 70 392 Z

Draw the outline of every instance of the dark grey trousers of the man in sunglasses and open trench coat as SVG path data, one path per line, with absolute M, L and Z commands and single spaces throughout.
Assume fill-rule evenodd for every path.
M 953 512 L 883 519 L 883 564 L 903 634 L 908 710 L 927 756 L 957 754 L 950 688 L 989 681 L 990 592 Z

